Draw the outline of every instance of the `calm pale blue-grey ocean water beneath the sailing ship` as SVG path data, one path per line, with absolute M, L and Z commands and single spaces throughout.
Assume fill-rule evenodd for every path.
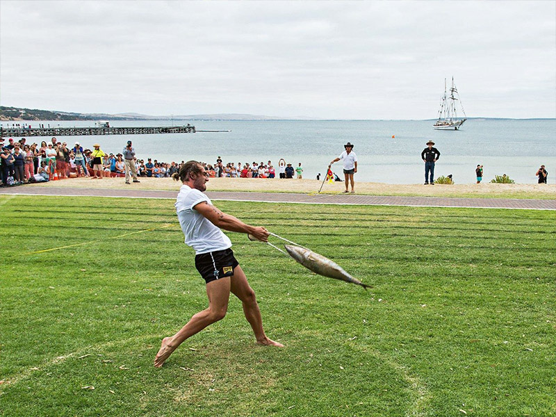
M 11 122 L 10 122 L 11 123 Z M 31 122 L 60 126 L 95 126 L 95 122 Z M 536 183 L 541 164 L 548 170 L 548 182 L 556 183 L 556 119 L 550 120 L 468 120 L 459 131 L 435 131 L 432 121 L 111 121 L 111 126 L 175 126 L 194 124 L 197 130 L 230 130 L 219 133 L 173 133 L 132 136 L 62 136 L 61 140 L 92 148 L 99 142 L 104 152 L 121 152 L 127 140 L 139 158 L 158 161 L 195 159 L 214 163 L 252 163 L 279 158 L 297 166 L 304 178 L 325 172 L 346 142 L 354 144 L 359 159 L 356 181 L 423 183 L 424 163 L 420 153 L 433 140 L 441 152 L 435 177 L 452 174 L 455 183 L 474 183 L 475 167 L 484 165 L 487 182 L 507 174 L 517 183 Z M 7 126 L 8 122 L 2 122 Z M 42 138 L 32 138 L 39 142 Z M 44 138 L 47 139 L 47 138 Z M 341 178 L 341 163 L 333 165 Z

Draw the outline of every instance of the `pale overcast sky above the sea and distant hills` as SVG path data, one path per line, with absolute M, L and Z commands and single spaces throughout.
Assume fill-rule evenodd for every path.
M 83 113 L 556 117 L 555 1 L 0 1 L 0 104 Z

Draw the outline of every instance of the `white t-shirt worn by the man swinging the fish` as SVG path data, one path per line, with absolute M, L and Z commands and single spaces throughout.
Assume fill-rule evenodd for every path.
M 196 188 L 183 185 L 176 199 L 176 212 L 186 245 L 195 249 L 195 254 L 206 254 L 231 247 L 231 240 L 210 220 L 193 208 L 200 202 L 212 205 L 211 200 Z

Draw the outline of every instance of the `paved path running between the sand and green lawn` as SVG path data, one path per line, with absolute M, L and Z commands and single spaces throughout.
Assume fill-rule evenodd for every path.
M 83 195 L 96 197 L 175 199 L 177 190 L 135 190 L 133 188 L 112 190 L 104 188 L 19 186 L 13 188 L 0 188 L 0 194 Z M 545 199 L 400 197 L 357 194 L 311 195 L 294 193 L 246 193 L 231 191 L 207 191 L 206 195 L 214 200 L 229 200 L 239 202 L 249 201 L 300 204 L 362 204 L 370 206 L 530 208 L 534 210 L 556 210 L 556 200 Z

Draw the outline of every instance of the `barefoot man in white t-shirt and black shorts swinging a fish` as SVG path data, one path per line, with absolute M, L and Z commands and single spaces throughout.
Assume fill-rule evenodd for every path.
M 183 341 L 213 322 L 222 320 L 226 316 L 230 292 L 243 303 L 243 313 L 253 329 L 256 343 L 283 347 L 265 335 L 255 293 L 234 257 L 231 241 L 220 228 L 251 234 L 263 242 L 268 241 L 268 231 L 264 227 L 245 224 L 213 206 L 203 193 L 208 182 L 206 171 L 197 161 L 181 165 L 179 172 L 172 178 L 183 183 L 175 206 L 181 230 L 186 236 L 186 245 L 195 249 L 195 267 L 206 281 L 208 308 L 190 318 L 174 336 L 163 338 L 161 349 L 154 358 L 154 366 L 163 366 L 164 361 Z

